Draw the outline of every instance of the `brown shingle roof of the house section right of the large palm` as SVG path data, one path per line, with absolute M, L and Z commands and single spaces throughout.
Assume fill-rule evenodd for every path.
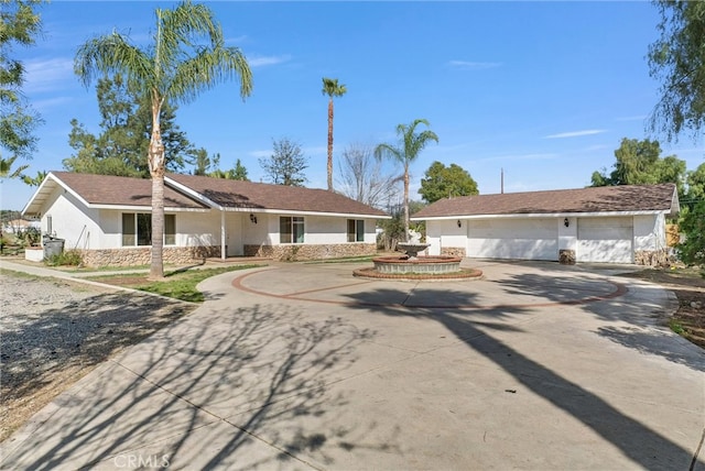
M 325 189 L 180 174 L 166 177 L 226 208 L 387 216 L 379 209 Z

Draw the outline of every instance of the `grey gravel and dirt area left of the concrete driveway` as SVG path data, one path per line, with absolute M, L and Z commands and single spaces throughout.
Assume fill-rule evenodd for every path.
M 196 307 L 4 271 L 0 286 L 0 441 L 97 364 Z

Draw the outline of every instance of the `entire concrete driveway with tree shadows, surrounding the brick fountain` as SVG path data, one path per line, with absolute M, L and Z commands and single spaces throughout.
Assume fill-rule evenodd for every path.
M 2 469 L 705 470 L 705 353 L 612 269 L 275 264 L 75 384 Z

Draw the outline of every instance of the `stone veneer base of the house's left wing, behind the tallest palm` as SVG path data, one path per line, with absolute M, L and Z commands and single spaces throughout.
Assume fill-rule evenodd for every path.
M 80 255 L 86 266 L 137 266 L 149 265 L 152 261 L 150 247 L 82 250 Z M 164 263 L 183 265 L 194 260 L 220 256 L 220 247 L 165 247 Z

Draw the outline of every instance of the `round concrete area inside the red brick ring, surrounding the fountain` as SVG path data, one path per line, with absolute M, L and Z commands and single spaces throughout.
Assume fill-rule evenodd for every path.
M 366 265 L 282 264 L 238 276 L 232 285 L 279 299 L 410 309 L 557 307 L 611 299 L 628 291 L 621 282 L 549 263 L 480 262 L 473 266 L 482 270 L 482 277 L 456 281 L 354 277 L 360 266 Z

